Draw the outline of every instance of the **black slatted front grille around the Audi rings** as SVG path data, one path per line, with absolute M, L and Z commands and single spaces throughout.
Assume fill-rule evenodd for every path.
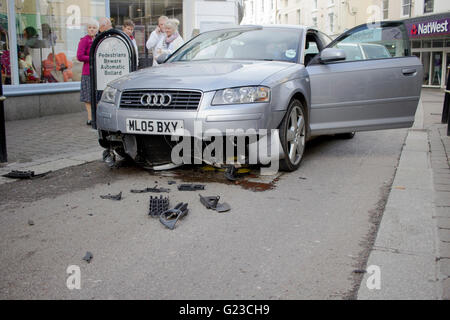
M 172 100 L 167 106 L 142 105 L 141 98 L 147 94 L 170 94 Z M 197 110 L 202 93 L 199 91 L 181 90 L 130 90 L 124 91 L 120 98 L 121 108 L 151 109 L 151 110 Z

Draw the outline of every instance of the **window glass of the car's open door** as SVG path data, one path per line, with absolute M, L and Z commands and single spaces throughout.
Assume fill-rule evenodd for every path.
M 359 26 L 339 37 L 330 47 L 344 50 L 346 61 L 389 59 L 410 54 L 402 23 Z

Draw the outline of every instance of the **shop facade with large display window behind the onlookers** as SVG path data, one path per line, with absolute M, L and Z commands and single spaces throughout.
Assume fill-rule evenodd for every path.
M 151 61 L 145 43 L 161 15 L 180 21 L 185 40 L 239 24 L 241 0 L 0 0 L 1 81 L 7 120 L 83 110 L 79 102 L 80 38 L 91 19 L 136 24 L 140 67 Z

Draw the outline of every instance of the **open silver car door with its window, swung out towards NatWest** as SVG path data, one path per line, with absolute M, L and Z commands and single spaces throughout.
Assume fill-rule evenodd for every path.
M 327 48 L 344 50 L 346 59 L 324 64 L 319 54 L 306 66 L 312 135 L 412 126 L 423 71 L 402 22 L 358 26 Z

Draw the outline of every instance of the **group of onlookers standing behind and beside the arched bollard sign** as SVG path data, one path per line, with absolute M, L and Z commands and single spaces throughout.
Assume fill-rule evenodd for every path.
M 184 44 L 183 38 L 178 32 L 179 21 L 177 19 L 169 19 L 166 16 L 161 16 L 158 19 L 158 26 L 150 34 L 146 43 L 146 47 L 153 56 L 153 65 L 157 65 L 157 58 L 162 55 L 168 55 L 176 51 Z M 138 55 L 138 45 L 134 38 L 135 24 L 132 20 L 125 20 L 122 26 L 122 31 L 130 37 L 136 55 Z M 87 35 L 80 39 L 77 50 L 77 59 L 83 62 L 83 71 L 81 76 L 81 90 L 80 101 L 84 102 L 86 111 L 88 113 L 87 125 L 91 125 L 91 82 L 90 82 L 90 66 L 89 53 L 95 37 L 105 31 L 112 29 L 111 20 L 108 18 L 100 18 L 99 21 L 91 20 L 87 25 Z

